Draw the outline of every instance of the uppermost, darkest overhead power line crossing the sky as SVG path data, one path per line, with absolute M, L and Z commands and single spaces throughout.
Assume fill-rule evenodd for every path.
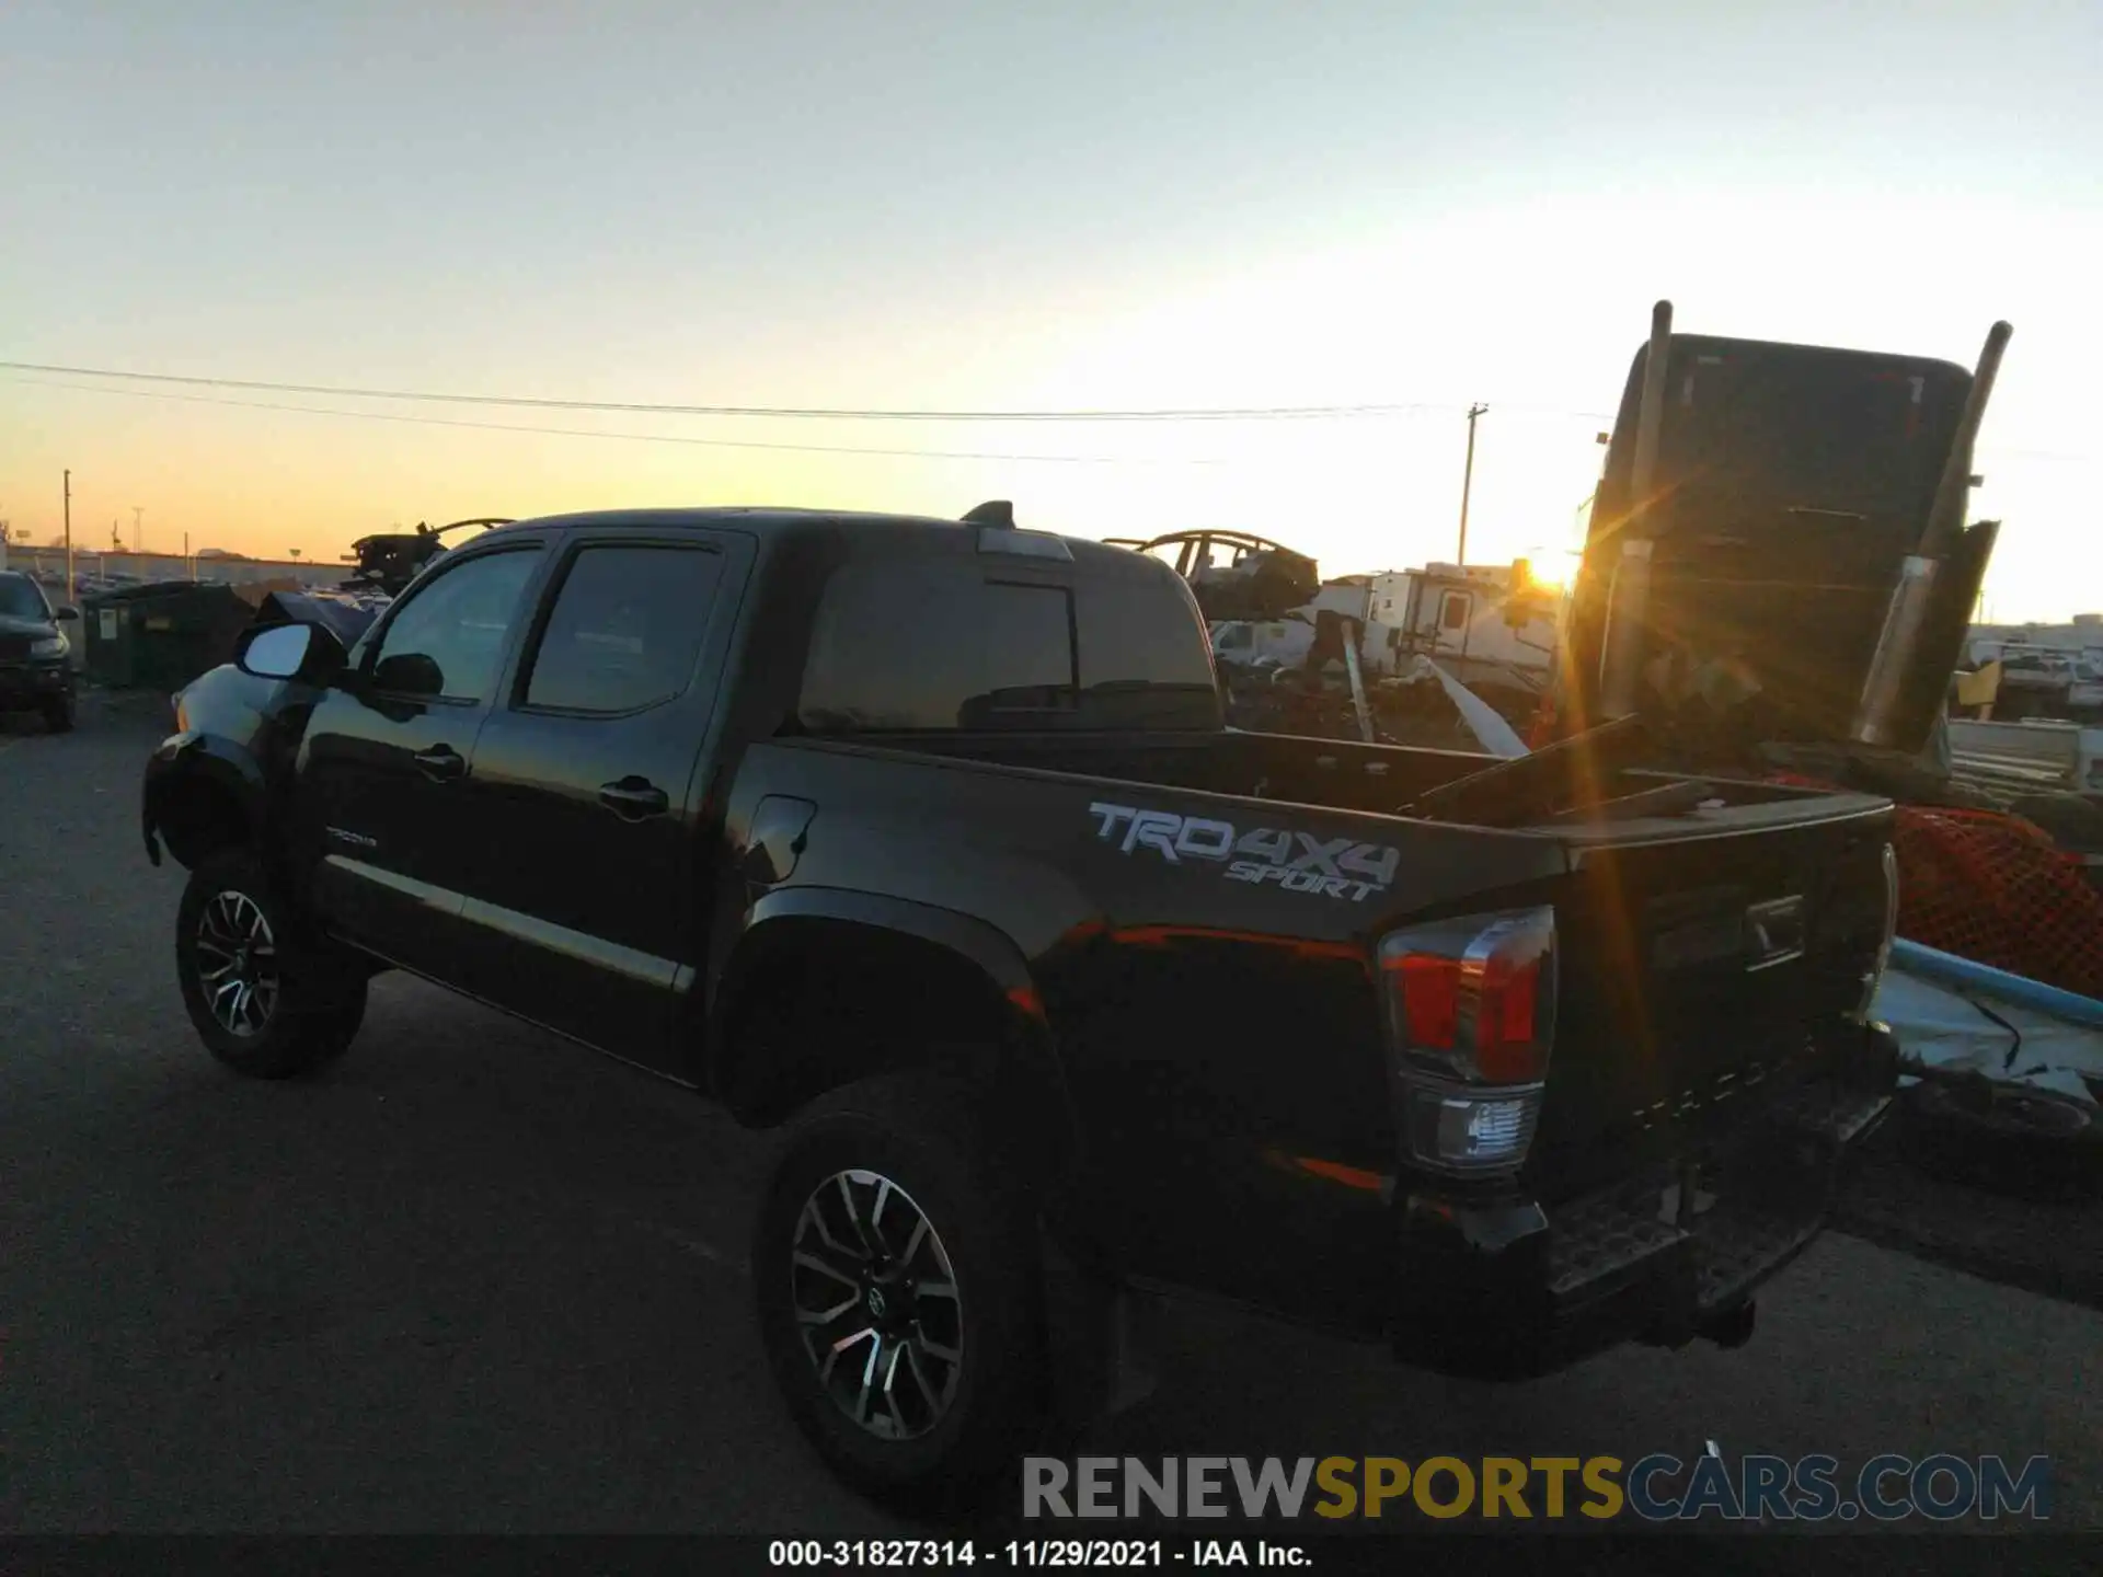
M 120 378 L 128 383 L 179 383 L 198 389 L 246 389 L 261 393 L 328 395 L 334 400 L 410 400 L 450 406 L 524 406 L 532 410 L 618 410 L 656 416 L 765 416 L 776 421 L 894 421 L 894 423 L 1165 423 L 1165 421 L 1340 421 L 1354 416 L 1403 416 L 1411 412 L 1462 410 L 1457 402 L 1398 402 L 1352 406 L 1209 406 L 1165 410 L 871 410 L 829 406 L 665 406 L 625 400 L 532 400 L 526 395 L 467 395 L 431 389 L 355 389 L 330 383 L 269 383 L 263 378 L 206 378 L 172 372 L 124 372 L 118 368 L 50 366 L 44 362 L 0 362 L 6 372 L 48 372 L 67 378 Z M 1605 418 L 1596 410 L 1552 410 L 1506 406 L 1535 414 Z

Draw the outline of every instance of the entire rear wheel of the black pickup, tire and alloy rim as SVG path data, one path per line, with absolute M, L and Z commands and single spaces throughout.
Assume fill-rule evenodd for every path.
M 753 1241 L 797 1426 L 862 1493 L 969 1503 L 1043 1428 L 1035 1220 L 944 1085 L 875 1079 L 801 1119 Z

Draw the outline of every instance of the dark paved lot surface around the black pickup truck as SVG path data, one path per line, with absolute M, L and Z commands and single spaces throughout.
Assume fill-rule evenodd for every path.
M 740 1268 L 763 1140 L 402 978 L 322 1081 L 204 1056 L 183 875 L 137 835 L 160 721 L 86 696 L 74 736 L 0 730 L 0 1522 L 898 1531 L 763 1375 Z M 2055 1524 L 2103 1524 L 2103 1316 L 1838 1232 L 1741 1352 L 1520 1388 L 1226 1312 L 1165 1325 L 1159 1394 L 1091 1451 L 2044 1453 Z

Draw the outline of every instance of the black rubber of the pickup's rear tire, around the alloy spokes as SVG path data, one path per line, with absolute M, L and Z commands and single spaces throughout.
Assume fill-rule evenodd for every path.
M 915 1512 L 969 1508 L 997 1476 L 1014 1480 L 1018 1457 L 1043 1438 L 1049 1379 L 1037 1220 L 1012 1184 L 1012 1171 L 995 1159 L 991 1135 L 969 1104 L 951 1085 L 930 1079 L 871 1079 L 835 1091 L 789 1133 L 753 1234 L 761 1342 L 797 1428 L 841 1478 L 871 1499 Z M 900 1274 L 932 1270 L 946 1259 L 955 1287 L 955 1306 L 948 1308 L 925 1291 L 936 1281 L 921 1281 L 915 1293 L 906 1274 L 908 1299 L 923 1318 L 904 1331 L 894 1327 L 890 1348 L 858 1342 L 841 1354 L 848 1373 L 835 1369 L 833 1386 L 848 1398 L 858 1392 L 856 1363 L 864 1373 L 883 1369 L 883 1379 L 900 1386 L 930 1381 L 898 1394 L 898 1411 L 885 1419 L 892 1438 L 858 1424 L 848 1411 L 850 1400 L 835 1400 L 814 1356 L 831 1348 L 835 1327 L 852 1337 L 852 1325 L 881 1318 L 885 1310 L 866 1299 L 852 1308 L 843 1302 L 848 1312 L 816 1327 L 810 1348 L 805 1331 L 812 1327 L 797 1318 L 799 1299 L 814 1308 L 818 1299 L 854 1297 L 833 1276 L 814 1276 L 795 1262 L 799 1247 L 814 1243 L 805 1205 L 820 1190 L 829 1201 L 841 1199 L 839 1180 L 848 1173 L 890 1182 L 892 1199 L 904 1199 L 906 1220 L 919 1213 L 927 1222 L 934 1255 L 923 1243 Z M 848 1186 L 848 1196 L 860 1201 L 860 1215 L 881 1222 L 877 1243 L 896 1249 L 904 1220 L 890 1213 L 898 1205 L 875 1211 L 877 1192 L 869 1182 Z M 824 1217 L 835 1232 L 848 1220 L 837 1203 Z M 890 1318 L 896 1316 L 890 1310 Z M 936 1350 L 955 1339 L 957 1363 L 923 1358 L 913 1350 L 915 1331 Z M 900 1346 L 906 1348 L 904 1363 L 892 1356 L 883 1367 L 881 1354 L 898 1354 Z M 936 1396 L 942 1400 L 936 1402 Z M 881 1405 L 875 1386 L 869 1402 L 873 1409 Z

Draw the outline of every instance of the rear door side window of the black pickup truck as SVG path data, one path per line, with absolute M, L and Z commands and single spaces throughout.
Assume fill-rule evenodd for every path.
M 679 696 L 694 675 L 723 555 L 705 547 L 585 547 L 540 631 L 526 704 L 633 713 Z

